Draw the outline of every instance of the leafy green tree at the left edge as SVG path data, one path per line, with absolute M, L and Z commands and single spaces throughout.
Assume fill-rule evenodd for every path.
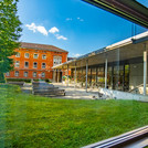
M 17 14 L 19 0 L 0 0 L 0 83 L 4 83 L 4 73 L 13 70 L 14 49 L 21 36 L 21 22 Z

